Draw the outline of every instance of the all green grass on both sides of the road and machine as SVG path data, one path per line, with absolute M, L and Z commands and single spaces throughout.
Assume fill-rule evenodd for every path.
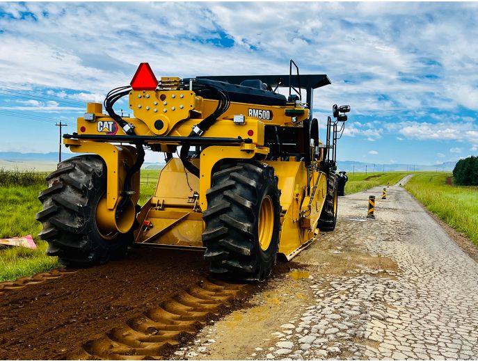
M 346 194 L 351 194 L 374 186 L 396 184 L 407 174 L 409 173 L 350 174 L 345 191 Z M 141 171 L 141 205 L 153 195 L 158 175 L 159 170 Z M 447 173 L 419 173 L 408 182 L 406 188 L 431 211 L 452 227 L 470 236 L 478 245 L 478 189 L 447 186 L 445 179 L 448 176 Z M 14 179 L 12 182 L 17 181 Z M 0 248 L 0 282 L 60 266 L 56 257 L 48 257 L 45 254 L 47 243 L 38 239 L 42 225 L 35 220 L 35 214 L 42 208 L 38 193 L 45 187 L 42 179 L 33 179 L 33 184 L 29 186 L 0 182 L 0 191 L 3 194 L 0 238 L 31 234 L 38 246 L 37 250 Z M 460 204 L 459 212 L 454 211 L 457 209 L 456 202 Z

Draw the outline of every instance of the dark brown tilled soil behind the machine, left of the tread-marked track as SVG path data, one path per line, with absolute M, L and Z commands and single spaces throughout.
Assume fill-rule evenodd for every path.
M 135 249 L 122 261 L 6 291 L 0 297 L 0 360 L 65 359 L 206 278 L 201 252 Z

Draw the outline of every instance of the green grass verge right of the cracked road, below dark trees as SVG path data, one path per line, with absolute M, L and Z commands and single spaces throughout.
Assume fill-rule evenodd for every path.
M 446 184 L 452 173 L 420 173 L 405 188 L 455 230 L 478 246 L 478 187 Z

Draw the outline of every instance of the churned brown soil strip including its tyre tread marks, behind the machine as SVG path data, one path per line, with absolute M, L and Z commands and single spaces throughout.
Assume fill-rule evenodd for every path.
M 278 262 L 273 273 L 292 266 Z M 0 296 L 0 360 L 168 358 L 266 284 L 212 280 L 202 252 L 151 248 L 43 278 Z

